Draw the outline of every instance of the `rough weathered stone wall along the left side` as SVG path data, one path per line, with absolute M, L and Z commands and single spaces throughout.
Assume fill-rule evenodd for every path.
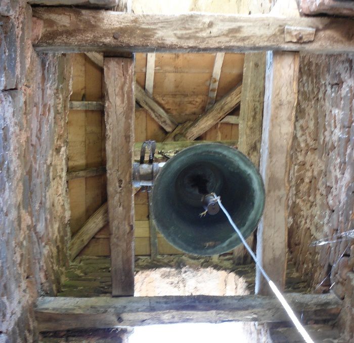
M 32 304 L 67 263 L 71 62 L 37 55 L 24 1 L 0 6 L 0 341 L 37 339 Z

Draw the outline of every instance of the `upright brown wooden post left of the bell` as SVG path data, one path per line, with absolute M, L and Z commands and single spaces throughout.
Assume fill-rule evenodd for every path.
M 134 295 L 134 58 L 105 58 L 104 80 L 112 295 Z

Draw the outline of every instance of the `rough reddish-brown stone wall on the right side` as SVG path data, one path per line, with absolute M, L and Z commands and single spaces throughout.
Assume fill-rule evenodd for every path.
M 300 56 L 289 247 L 309 286 L 343 297 L 350 240 L 311 243 L 354 229 L 354 55 Z

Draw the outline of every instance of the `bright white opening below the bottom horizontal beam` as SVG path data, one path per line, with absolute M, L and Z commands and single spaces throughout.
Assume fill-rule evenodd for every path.
M 129 343 L 215 343 L 249 340 L 243 332 L 243 323 L 184 323 L 148 325 L 134 328 Z

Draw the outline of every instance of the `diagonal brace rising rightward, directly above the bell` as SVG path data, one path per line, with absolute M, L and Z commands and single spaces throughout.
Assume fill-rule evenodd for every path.
M 185 132 L 179 134 L 191 141 L 198 138 L 240 104 L 241 91 L 242 84 L 239 84 L 205 113 L 194 120 L 191 125 L 187 127 Z

